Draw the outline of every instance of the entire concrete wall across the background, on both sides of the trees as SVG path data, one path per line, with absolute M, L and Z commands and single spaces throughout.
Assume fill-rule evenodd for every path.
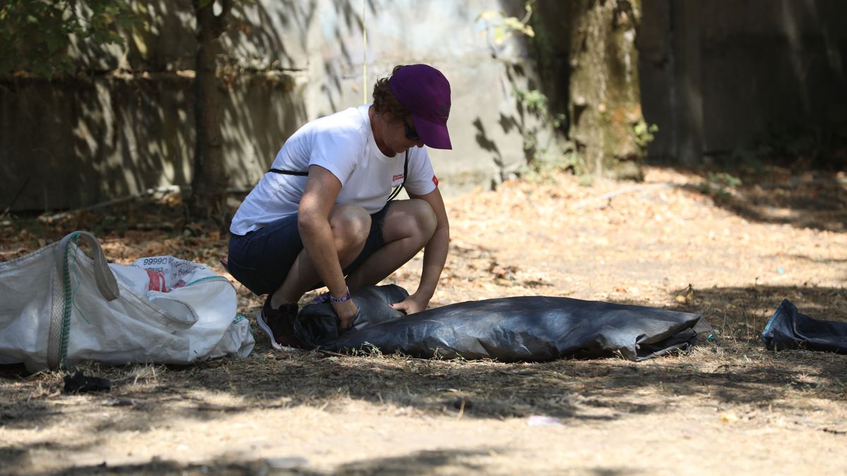
M 15 196 L 15 210 L 55 210 L 190 183 L 191 1 L 133 4 L 147 25 L 126 32 L 125 47 L 75 45 L 77 77 L 0 80 L 0 209 Z M 840 23 L 847 2 L 642 0 L 642 8 L 642 106 L 660 127 L 651 158 L 703 163 L 772 131 L 826 134 L 845 119 L 847 29 Z M 522 14 L 523 1 L 238 7 L 221 52 L 231 185 L 251 187 L 300 125 L 356 106 L 395 64 L 418 62 L 444 71 L 452 85 L 454 150 L 431 151 L 442 191 L 488 187 L 514 174 L 527 158 L 524 134 L 540 128 L 548 146 L 552 136 L 512 87 L 540 85 L 544 76 L 553 105 L 567 102 L 567 45 L 556 40 L 567 8 L 537 3 L 548 42 L 541 72 L 523 38 L 496 46 L 484 35 L 475 19 L 490 9 Z

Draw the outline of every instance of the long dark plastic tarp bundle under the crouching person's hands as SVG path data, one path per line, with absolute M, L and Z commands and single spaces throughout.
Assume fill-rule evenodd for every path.
M 341 335 L 329 304 L 308 305 L 298 315 L 296 333 L 329 351 L 373 346 L 424 358 L 539 362 L 618 355 L 639 361 L 688 351 L 700 321 L 700 314 L 548 296 L 458 302 L 409 316 L 387 305 L 405 296 L 395 285 L 356 293 L 359 315 L 354 329 Z

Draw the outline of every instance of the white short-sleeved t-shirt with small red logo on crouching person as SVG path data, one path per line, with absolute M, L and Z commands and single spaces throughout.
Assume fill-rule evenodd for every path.
M 315 119 L 297 130 L 276 154 L 271 169 L 307 171 L 309 165 L 329 170 L 341 182 L 335 203 L 350 203 L 377 213 L 385 207 L 391 188 L 403 182 L 405 153 L 388 157 L 374 141 L 368 117 L 370 104 Z M 409 149 L 406 189 L 414 195 L 435 190 L 438 180 L 426 147 Z M 230 231 L 252 230 L 294 213 L 308 177 L 268 172 L 235 212 Z

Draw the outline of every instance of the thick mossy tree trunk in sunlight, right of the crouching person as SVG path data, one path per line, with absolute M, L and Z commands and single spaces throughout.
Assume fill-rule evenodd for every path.
M 640 0 L 570 0 L 568 136 L 597 175 L 642 180 Z M 639 145 L 640 142 L 640 145 Z

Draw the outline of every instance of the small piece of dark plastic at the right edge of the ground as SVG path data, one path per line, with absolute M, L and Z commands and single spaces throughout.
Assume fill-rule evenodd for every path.
M 847 354 L 847 323 L 810 318 L 785 299 L 767 320 L 761 340 L 771 351 L 806 349 Z

